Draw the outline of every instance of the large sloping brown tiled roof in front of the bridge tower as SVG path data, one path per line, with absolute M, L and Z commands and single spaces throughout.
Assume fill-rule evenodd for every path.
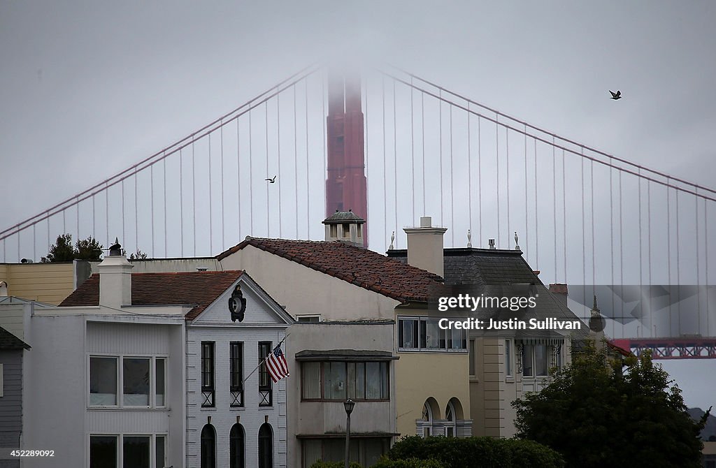
M 246 238 L 217 259 L 222 260 L 246 245 L 404 303 L 427 302 L 442 291 L 440 276 L 339 241 Z

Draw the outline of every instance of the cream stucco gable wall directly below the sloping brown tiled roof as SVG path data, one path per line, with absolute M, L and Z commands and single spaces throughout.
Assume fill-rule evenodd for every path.
M 224 270 L 246 270 L 292 316 L 320 313 L 326 321 L 392 320 L 399 303 L 251 245 L 224 258 L 221 265 Z

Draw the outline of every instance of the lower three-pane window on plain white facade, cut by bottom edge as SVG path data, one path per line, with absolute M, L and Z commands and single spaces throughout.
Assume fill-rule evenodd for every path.
M 154 452 L 152 446 L 154 445 Z M 154 457 L 153 457 L 154 454 Z M 89 468 L 164 468 L 166 435 L 90 435 Z

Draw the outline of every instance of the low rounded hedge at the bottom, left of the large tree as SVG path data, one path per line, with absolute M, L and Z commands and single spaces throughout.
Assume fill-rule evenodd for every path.
M 491 437 L 403 437 L 393 445 L 387 457 L 391 460 L 432 459 L 450 468 L 564 467 L 561 455 L 541 444 Z

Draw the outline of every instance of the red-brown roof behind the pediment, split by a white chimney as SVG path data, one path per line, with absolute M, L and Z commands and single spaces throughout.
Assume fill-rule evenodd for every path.
M 185 316 L 187 320 L 193 320 L 230 288 L 242 273 L 238 270 L 132 273 L 132 306 L 193 304 L 194 308 Z M 95 273 L 59 306 L 99 304 L 100 275 Z

